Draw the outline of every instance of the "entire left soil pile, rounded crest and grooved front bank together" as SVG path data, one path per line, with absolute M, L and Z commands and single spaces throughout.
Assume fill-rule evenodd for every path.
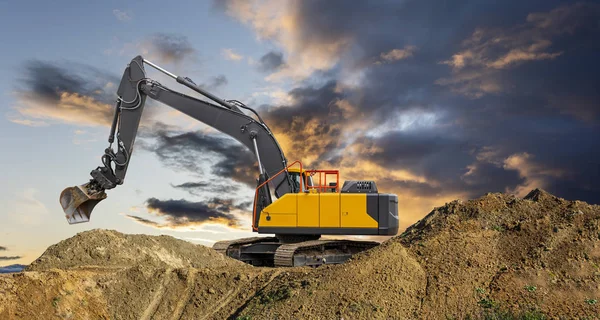
M 0 276 L 0 319 L 226 319 L 279 273 L 169 236 L 92 230 Z

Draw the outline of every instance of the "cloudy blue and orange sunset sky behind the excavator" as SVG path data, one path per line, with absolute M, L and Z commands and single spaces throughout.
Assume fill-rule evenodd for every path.
M 401 230 L 487 192 L 600 204 L 597 2 L 0 0 L 0 39 L 0 266 L 96 228 L 253 235 L 252 153 L 150 99 L 124 184 L 65 221 L 137 55 L 257 109 L 289 161 L 397 194 Z

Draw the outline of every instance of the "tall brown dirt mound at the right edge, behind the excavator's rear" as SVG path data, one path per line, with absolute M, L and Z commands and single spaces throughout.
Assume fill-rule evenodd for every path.
M 420 315 L 596 316 L 600 206 L 543 190 L 490 193 L 434 209 L 391 242 L 427 273 Z

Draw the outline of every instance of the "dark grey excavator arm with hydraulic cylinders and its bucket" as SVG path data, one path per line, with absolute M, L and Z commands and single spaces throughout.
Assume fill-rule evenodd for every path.
M 148 78 L 144 69 L 145 64 L 215 103 L 171 90 Z M 191 79 L 176 76 L 141 56 L 131 60 L 123 72 L 117 96 L 108 138 L 109 147 L 101 157 L 102 166 L 91 171 L 92 179 L 88 183 L 67 188 L 61 193 L 60 203 L 69 223 L 89 221 L 93 208 L 106 198 L 105 191 L 123 184 L 147 98 L 162 102 L 233 137 L 256 155 L 259 169 L 257 186 L 262 185 L 255 203 L 258 212 L 272 203 L 269 184 L 263 183 L 270 177 L 274 177 L 271 183 L 275 186 L 276 197 L 297 192 L 294 190 L 295 185 L 289 174 L 276 175 L 286 169 L 287 160 L 271 130 L 253 109 L 241 102 L 222 100 L 196 85 Z M 254 113 L 256 119 L 243 113 L 240 108 Z M 115 141 L 116 150 L 113 149 Z

